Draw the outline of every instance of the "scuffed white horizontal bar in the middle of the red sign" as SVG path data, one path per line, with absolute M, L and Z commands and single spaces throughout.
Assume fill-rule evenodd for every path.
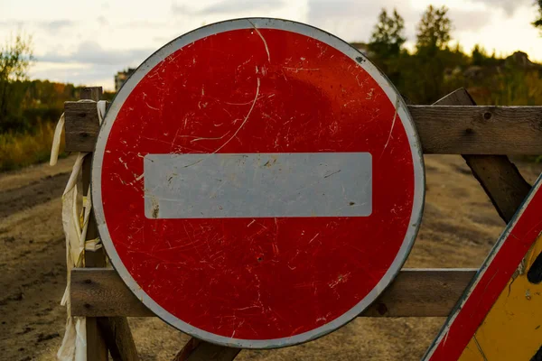
M 370 153 L 148 154 L 146 218 L 367 217 Z

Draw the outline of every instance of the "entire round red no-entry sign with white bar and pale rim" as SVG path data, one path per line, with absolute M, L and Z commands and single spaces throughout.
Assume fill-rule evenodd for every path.
M 233 347 L 355 318 L 406 260 L 424 201 L 397 91 L 329 33 L 216 23 L 145 60 L 98 136 L 107 254 L 156 315 Z

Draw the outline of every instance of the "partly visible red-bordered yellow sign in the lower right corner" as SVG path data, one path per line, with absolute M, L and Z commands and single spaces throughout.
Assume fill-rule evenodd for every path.
M 542 177 L 531 190 L 425 360 L 542 358 Z

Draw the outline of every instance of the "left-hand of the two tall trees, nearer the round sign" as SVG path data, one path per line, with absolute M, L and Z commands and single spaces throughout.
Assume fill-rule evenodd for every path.
M 399 55 L 406 42 L 404 32 L 405 20 L 397 13 L 397 9 L 393 10 L 391 16 L 388 16 L 386 9 L 382 9 L 370 37 L 369 50 L 380 59 Z

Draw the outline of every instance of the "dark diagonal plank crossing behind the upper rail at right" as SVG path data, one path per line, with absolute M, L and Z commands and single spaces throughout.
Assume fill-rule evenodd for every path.
M 442 98 L 435 105 L 475 106 L 476 103 L 471 95 L 461 88 Z M 521 144 L 520 140 L 517 142 Z M 531 189 L 530 184 L 506 155 L 463 155 L 463 158 L 471 168 L 472 175 L 490 197 L 500 218 L 508 223 L 527 197 Z

